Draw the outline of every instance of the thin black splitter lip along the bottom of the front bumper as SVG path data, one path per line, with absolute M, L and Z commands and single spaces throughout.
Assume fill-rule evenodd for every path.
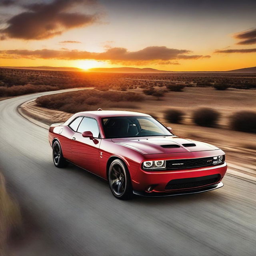
M 184 194 L 196 194 L 196 193 L 202 193 L 206 191 L 211 191 L 217 188 L 223 187 L 224 184 L 222 182 L 219 182 L 217 184 L 213 184 L 210 186 L 206 186 L 203 188 L 195 188 L 191 190 L 183 190 L 183 191 L 176 191 L 176 192 L 145 192 L 145 191 L 135 191 L 133 190 L 133 193 L 139 196 L 147 196 L 147 197 L 162 197 L 162 196 L 180 196 Z

